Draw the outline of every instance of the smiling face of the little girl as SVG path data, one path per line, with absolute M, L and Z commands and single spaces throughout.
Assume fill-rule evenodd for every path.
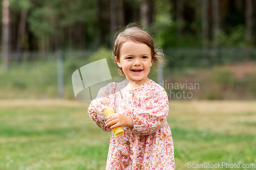
M 115 59 L 117 61 L 117 57 Z M 152 63 L 151 48 L 146 44 L 132 40 L 123 43 L 117 64 L 122 67 L 131 87 L 140 86 L 149 80 L 147 75 Z

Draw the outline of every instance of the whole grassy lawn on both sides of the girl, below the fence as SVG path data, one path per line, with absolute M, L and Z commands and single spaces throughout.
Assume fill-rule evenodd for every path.
M 0 101 L 0 169 L 105 169 L 111 133 L 94 124 L 88 105 Z M 255 101 L 170 101 L 169 106 L 176 169 L 193 169 L 189 162 L 256 164 Z

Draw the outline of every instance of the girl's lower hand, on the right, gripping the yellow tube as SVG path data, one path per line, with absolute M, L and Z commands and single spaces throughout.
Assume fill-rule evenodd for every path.
M 119 113 L 109 115 L 105 122 L 106 126 L 112 126 L 111 129 L 117 127 L 130 127 L 133 128 L 133 119 L 131 116 L 126 116 Z

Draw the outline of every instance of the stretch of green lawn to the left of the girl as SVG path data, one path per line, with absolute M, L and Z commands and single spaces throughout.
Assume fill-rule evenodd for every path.
M 1 107 L 0 169 L 104 169 L 110 133 L 84 107 Z

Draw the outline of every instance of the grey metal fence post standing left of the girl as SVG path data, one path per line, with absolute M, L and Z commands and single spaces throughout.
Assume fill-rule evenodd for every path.
M 58 51 L 57 53 L 57 81 L 58 81 L 58 99 L 63 98 L 63 52 Z

